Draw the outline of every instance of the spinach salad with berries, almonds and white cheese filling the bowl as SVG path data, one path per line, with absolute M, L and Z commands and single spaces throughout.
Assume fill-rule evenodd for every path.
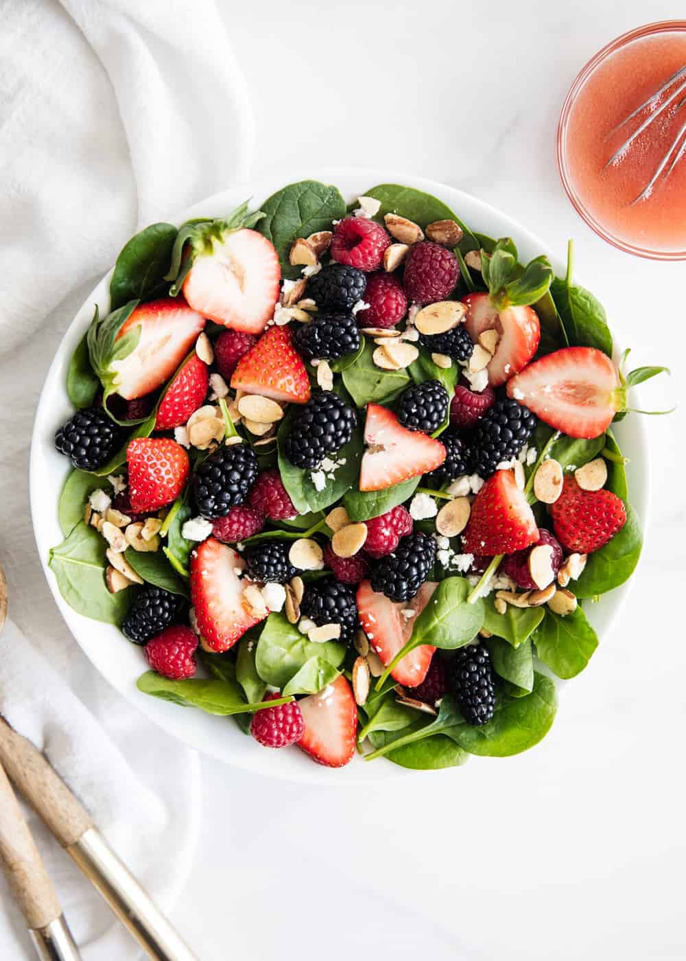
M 398 185 L 136 234 L 55 435 L 64 600 L 256 751 L 537 744 L 638 562 L 612 425 L 663 369 L 616 365 L 571 275 Z

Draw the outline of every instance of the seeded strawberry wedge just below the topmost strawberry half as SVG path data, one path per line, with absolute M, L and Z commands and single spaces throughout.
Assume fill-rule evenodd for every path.
M 289 328 L 270 327 L 238 361 L 231 379 L 233 389 L 261 394 L 273 401 L 306 404 L 310 396 L 309 378 L 292 339 Z

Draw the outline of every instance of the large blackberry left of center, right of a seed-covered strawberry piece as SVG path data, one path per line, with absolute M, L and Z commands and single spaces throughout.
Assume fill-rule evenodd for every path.
M 257 478 L 257 456 L 247 444 L 220 447 L 198 465 L 193 478 L 195 503 L 209 521 L 242 504 Z

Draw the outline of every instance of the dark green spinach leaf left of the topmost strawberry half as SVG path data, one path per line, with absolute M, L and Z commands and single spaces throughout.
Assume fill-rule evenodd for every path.
M 151 224 L 124 245 L 110 280 L 112 310 L 131 300 L 152 300 L 165 293 L 164 274 L 177 233 L 173 224 Z

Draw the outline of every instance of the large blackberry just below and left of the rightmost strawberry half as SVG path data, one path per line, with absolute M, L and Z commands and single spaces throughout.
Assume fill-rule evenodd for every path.
M 502 460 L 519 455 L 536 427 L 536 418 L 517 401 L 505 398 L 490 407 L 472 436 L 472 469 L 489 478 Z

